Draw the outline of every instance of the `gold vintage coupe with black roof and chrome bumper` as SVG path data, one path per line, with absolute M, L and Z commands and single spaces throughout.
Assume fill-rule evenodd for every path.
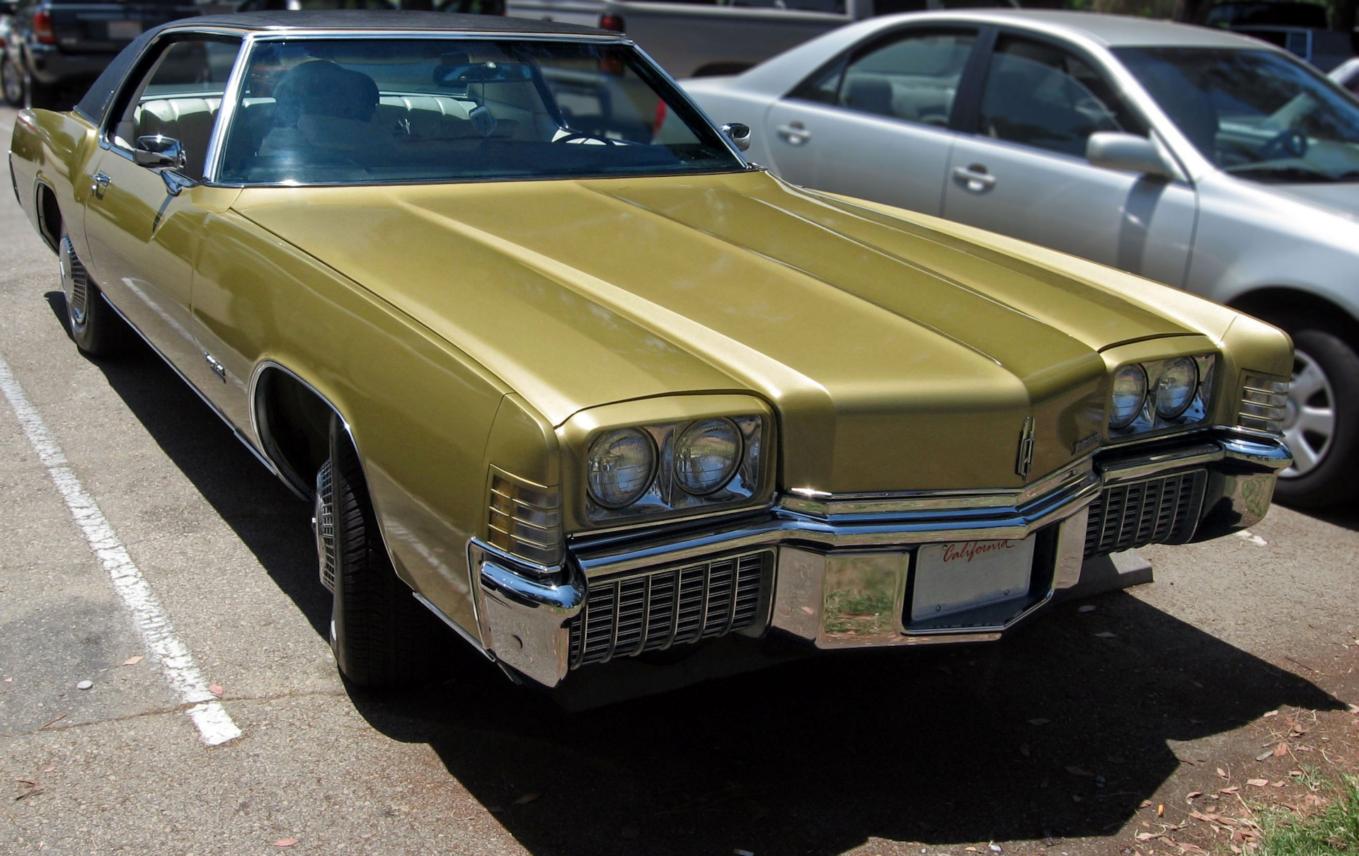
M 11 170 L 92 356 L 135 330 L 315 503 L 340 668 L 999 637 L 1084 560 L 1258 520 L 1288 340 L 790 186 L 625 37 L 434 14 L 149 31 Z M 1033 216 L 1042 216 L 1041 211 Z

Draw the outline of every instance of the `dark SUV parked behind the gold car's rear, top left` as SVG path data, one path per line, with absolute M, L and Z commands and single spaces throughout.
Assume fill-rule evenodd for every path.
M 18 0 L 0 65 L 5 101 L 53 106 L 88 86 L 144 30 L 197 14 L 192 0 Z

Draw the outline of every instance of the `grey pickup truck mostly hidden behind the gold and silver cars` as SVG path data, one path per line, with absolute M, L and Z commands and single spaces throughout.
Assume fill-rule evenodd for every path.
M 518 18 L 626 33 L 675 77 L 733 75 L 836 27 L 894 12 L 1017 0 L 508 0 Z

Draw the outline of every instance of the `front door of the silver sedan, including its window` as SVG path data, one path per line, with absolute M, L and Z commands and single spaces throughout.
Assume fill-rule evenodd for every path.
M 943 216 L 1182 285 L 1192 185 L 1093 166 L 1098 130 L 1148 133 L 1097 61 L 1002 33 L 949 162 Z

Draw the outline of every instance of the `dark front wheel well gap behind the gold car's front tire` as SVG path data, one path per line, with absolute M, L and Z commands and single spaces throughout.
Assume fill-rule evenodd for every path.
M 265 368 L 260 375 L 254 408 L 265 455 L 294 488 L 311 496 L 317 471 L 330 455 L 330 414 L 334 409 L 281 368 Z

